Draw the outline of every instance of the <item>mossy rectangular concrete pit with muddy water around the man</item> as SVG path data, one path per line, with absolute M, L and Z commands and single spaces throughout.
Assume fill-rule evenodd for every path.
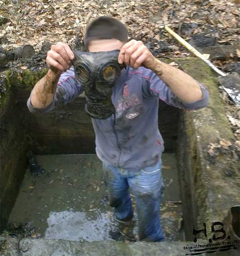
M 239 161 L 231 161 L 226 152 L 208 154 L 210 143 L 226 139 L 234 144 L 216 78 L 197 58 L 176 61 L 209 90 L 210 103 L 198 111 L 160 103 L 159 129 L 165 141 L 161 219 L 166 241 L 162 243 L 135 242 L 137 221 L 132 229 L 114 222 L 101 162 L 95 155 L 91 119 L 84 112 L 85 99 L 78 97 L 50 113 L 33 115 L 26 101 L 46 69 L 5 73 L 6 90 L 0 99 L 3 255 L 7 255 L 6 248 L 12 253 L 26 250 L 26 255 L 42 255 L 56 245 L 58 254 L 54 255 L 99 255 L 106 247 L 106 255 L 113 248 L 122 255 L 150 251 L 153 255 L 185 255 L 190 249 L 184 246 L 195 245 L 193 227 L 200 230 L 206 223 L 207 238 L 203 232 L 197 238 L 198 243 L 208 244 L 213 238 L 212 222 L 217 221 L 231 233 L 222 242 L 239 239 L 239 210 L 232 208 L 240 202 Z M 45 170 L 40 176 L 28 169 L 30 151 Z M 239 247 L 233 245 L 236 249 L 228 252 L 237 255 Z M 219 255 L 225 255 L 221 246 Z

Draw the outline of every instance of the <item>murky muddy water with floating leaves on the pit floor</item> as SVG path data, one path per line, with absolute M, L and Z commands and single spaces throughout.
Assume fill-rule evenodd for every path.
M 32 176 L 27 170 L 9 221 L 32 222 L 36 233 L 47 239 L 137 240 L 137 221 L 132 229 L 114 221 L 96 155 L 37 156 L 37 161 L 45 173 Z M 181 201 L 174 154 L 163 154 L 163 176 L 163 228 L 166 239 L 179 240 Z

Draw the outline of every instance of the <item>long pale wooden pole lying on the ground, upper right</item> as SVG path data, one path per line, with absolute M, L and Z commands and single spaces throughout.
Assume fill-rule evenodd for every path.
M 193 48 L 190 44 L 188 44 L 187 41 L 185 41 L 180 35 L 172 31 L 168 26 L 164 27 L 165 30 L 171 34 L 174 38 L 176 38 L 183 46 L 185 46 L 190 52 L 192 52 L 197 57 L 201 58 L 205 63 L 207 63 L 208 66 L 210 66 L 216 73 L 220 74 L 221 76 L 226 76 L 224 72 L 216 68 L 208 59 L 206 59 L 202 53 L 197 51 L 195 48 Z

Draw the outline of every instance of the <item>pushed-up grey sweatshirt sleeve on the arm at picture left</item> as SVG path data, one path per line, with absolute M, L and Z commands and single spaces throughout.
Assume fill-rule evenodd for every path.
M 52 111 L 55 106 L 66 105 L 72 102 L 83 92 L 81 84 L 75 79 L 73 66 L 63 72 L 58 80 L 58 85 L 52 103 L 46 108 L 38 109 L 31 104 L 32 92 L 28 98 L 27 106 L 31 113 L 43 114 Z

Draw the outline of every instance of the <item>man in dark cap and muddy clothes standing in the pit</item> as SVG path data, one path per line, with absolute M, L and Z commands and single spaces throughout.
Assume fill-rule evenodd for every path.
M 158 129 L 159 99 L 177 108 L 195 110 L 208 104 L 208 92 L 183 71 L 155 58 L 142 41 L 128 41 L 126 27 L 116 18 L 95 18 L 86 26 L 83 39 L 89 52 L 120 50 L 118 62 L 126 65 L 113 87 L 116 115 L 92 118 L 96 153 L 103 162 L 115 218 L 119 222 L 133 219 L 130 187 L 137 202 L 139 240 L 163 241 L 160 204 L 164 142 Z M 51 47 L 47 55 L 50 69 L 28 99 L 32 113 L 51 111 L 83 92 L 70 68 L 73 59 L 67 44 L 59 42 Z

